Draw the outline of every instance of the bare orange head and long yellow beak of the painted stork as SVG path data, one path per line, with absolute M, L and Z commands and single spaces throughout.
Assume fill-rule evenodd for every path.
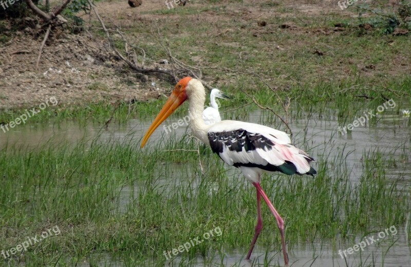
M 185 100 L 187 100 L 187 94 L 185 92 L 185 88 L 191 81 L 191 77 L 185 77 L 178 81 L 176 87 L 174 87 L 171 96 L 165 102 L 164 106 L 161 108 L 160 112 L 158 113 L 156 119 L 154 119 L 153 123 L 151 124 L 150 128 L 148 128 L 147 132 L 143 137 L 143 141 L 141 142 L 141 147 L 145 145 L 148 138 L 152 135 L 154 130 L 165 120 L 167 117 L 171 115 Z

